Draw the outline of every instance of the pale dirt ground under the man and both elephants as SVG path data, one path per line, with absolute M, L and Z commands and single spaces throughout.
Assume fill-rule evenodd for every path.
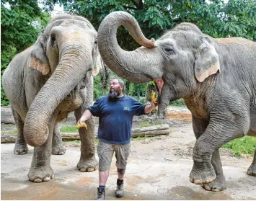
M 226 190 L 208 192 L 190 183 L 195 144 L 190 112 L 175 107 L 167 112 L 167 117 L 171 125 L 169 135 L 132 139 L 125 196 L 121 199 L 114 196 L 117 174 L 115 158 L 112 159 L 107 200 L 256 200 L 256 177 L 246 173 L 252 156 L 235 158 L 226 149 L 221 149 Z M 2 125 L 1 130 L 7 130 L 6 127 Z M 14 144 L 1 144 L 1 200 L 94 200 L 97 171 L 78 171 L 80 144 L 64 142 L 64 145 L 63 156 L 51 156 L 56 177 L 50 182 L 33 183 L 27 179 L 32 147 L 27 154 L 17 156 L 13 153 Z

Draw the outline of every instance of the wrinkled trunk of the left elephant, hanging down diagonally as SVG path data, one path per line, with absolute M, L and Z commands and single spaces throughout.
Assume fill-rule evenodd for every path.
M 89 55 L 84 54 L 88 52 L 85 45 L 70 46 L 72 49 L 69 45 L 63 49 L 56 70 L 40 89 L 27 112 L 24 137 L 30 146 L 42 146 L 45 143 L 49 135 L 48 122 L 56 107 L 92 67 Z

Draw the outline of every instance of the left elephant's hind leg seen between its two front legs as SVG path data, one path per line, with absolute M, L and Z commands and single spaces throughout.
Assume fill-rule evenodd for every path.
M 53 129 L 52 153 L 55 155 L 63 155 L 64 153 L 66 153 L 66 148 L 63 146 L 60 128 L 58 127 L 58 124 L 56 124 Z

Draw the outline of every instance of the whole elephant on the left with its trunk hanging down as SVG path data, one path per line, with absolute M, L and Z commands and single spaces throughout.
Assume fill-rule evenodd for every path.
M 58 122 L 74 111 L 76 120 L 93 100 L 92 68 L 99 65 L 97 32 L 83 17 L 54 17 L 34 45 L 15 56 L 4 71 L 3 86 L 17 125 L 14 153 L 35 146 L 28 177 L 48 181 L 54 177 L 50 156 L 65 153 Z M 93 69 L 94 71 L 94 69 Z M 80 171 L 94 171 L 94 120 L 79 129 Z

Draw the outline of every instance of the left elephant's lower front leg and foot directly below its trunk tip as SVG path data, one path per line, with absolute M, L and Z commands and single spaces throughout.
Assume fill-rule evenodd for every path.
M 50 167 L 51 137 L 48 137 L 43 146 L 34 148 L 34 155 L 28 174 L 28 178 L 32 182 L 48 182 L 54 177 L 53 169 Z

